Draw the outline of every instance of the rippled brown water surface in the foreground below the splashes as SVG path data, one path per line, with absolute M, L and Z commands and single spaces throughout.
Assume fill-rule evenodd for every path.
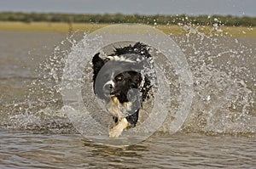
M 198 133 L 156 134 L 125 148 L 75 134 L 1 131 L 1 168 L 253 168 L 255 140 Z

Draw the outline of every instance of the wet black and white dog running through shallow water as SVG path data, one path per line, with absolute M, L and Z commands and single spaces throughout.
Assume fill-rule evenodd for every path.
M 139 110 L 152 87 L 150 77 L 152 57 L 147 45 L 137 42 L 124 48 L 115 48 L 113 54 L 92 59 L 93 82 L 96 97 L 104 100 L 113 115 L 114 126 L 110 138 L 118 138 L 128 127 L 136 127 Z

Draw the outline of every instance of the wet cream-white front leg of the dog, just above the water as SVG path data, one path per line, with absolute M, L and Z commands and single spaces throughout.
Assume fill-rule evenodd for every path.
M 126 120 L 126 118 L 122 118 L 119 123 L 109 132 L 109 138 L 119 138 L 119 135 L 121 135 L 125 128 L 129 126 L 130 123 Z

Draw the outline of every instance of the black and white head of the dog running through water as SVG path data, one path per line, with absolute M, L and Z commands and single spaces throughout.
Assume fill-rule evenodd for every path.
M 108 100 L 116 97 L 123 104 L 139 94 L 133 89 L 141 87 L 143 65 L 128 59 L 131 57 L 138 56 L 129 54 L 129 56 L 108 56 L 105 59 L 101 59 L 99 54 L 94 56 L 94 70 L 98 70 L 94 74 L 94 89 L 99 98 Z

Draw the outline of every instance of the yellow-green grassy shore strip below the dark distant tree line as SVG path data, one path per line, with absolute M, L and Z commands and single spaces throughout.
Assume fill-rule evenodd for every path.
M 17 22 L 0 21 L 0 31 L 40 31 L 40 32 L 87 32 L 96 31 L 112 24 L 64 23 L 64 22 Z M 256 27 L 241 26 L 188 26 L 188 25 L 152 25 L 168 35 L 183 36 L 204 34 L 213 37 L 256 37 Z

